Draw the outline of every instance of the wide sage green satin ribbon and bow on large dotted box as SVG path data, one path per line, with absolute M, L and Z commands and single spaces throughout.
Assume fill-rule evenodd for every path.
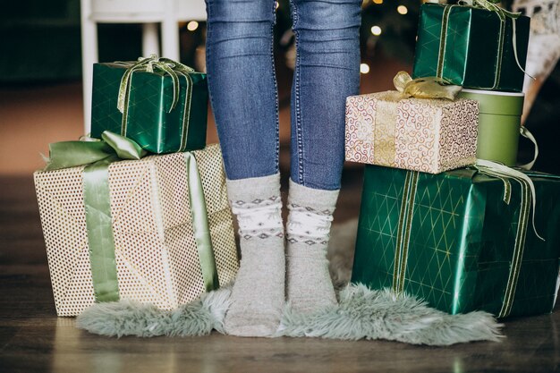
M 118 301 L 119 287 L 115 262 L 115 238 L 111 219 L 109 165 L 119 160 L 138 160 L 148 152 L 136 142 L 111 131 L 102 140 L 62 141 L 49 145 L 44 171 L 85 165 L 84 205 L 88 231 L 89 261 L 97 302 Z M 196 158 L 184 153 L 189 175 L 189 199 L 193 232 L 206 290 L 219 287 L 216 259 L 208 228 L 208 214 Z

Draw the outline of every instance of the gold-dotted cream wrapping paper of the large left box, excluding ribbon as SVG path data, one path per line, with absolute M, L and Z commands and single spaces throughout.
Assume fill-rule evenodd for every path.
M 219 146 L 191 152 L 198 164 L 219 284 L 238 268 Z M 109 165 L 111 225 L 121 299 L 174 309 L 207 289 L 193 226 L 188 153 Z M 56 312 L 96 301 L 84 206 L 84 166 L 34 174 Z M 98 269 L 98 268 L 97 268 Z

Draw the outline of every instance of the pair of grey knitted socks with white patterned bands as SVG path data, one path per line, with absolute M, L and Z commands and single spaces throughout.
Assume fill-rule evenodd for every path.
M 327 243 L 338 191 L 290 181 L 285 237 L 280 174 L 228 180 L 227 191 L 242 252 L 225 332 L 274 335 L 286 300 L 301 312 L 336 304 Z

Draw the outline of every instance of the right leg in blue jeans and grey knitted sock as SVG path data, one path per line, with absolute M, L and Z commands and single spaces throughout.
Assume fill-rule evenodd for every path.
M 361 0 L 292 0 L 296 67 L 287 225 L 294 309 L 335 304 L 327 243 L 344 164 L 346 97 L 360 87 Z

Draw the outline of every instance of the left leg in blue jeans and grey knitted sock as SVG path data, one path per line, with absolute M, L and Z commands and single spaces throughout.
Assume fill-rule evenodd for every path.
M 242 260 L 225 316 L 232 335 L 271 335 L 284 306 L 273 0 L 207 0 L 210 102 Z

